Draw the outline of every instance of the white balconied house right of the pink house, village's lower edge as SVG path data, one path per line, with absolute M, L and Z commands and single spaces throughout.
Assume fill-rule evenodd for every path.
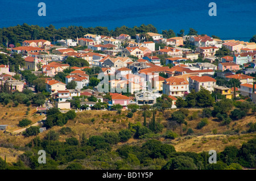
M 135 93 L 135 101 L 139 106 L 144 104 L 152 106 L 156 103 L 156 98 L 157 96 L 154 93 L 146 90 Z

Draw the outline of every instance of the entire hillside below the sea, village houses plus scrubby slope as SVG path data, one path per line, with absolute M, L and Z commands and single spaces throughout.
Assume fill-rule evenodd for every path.
M 254 168 L 256 43 L 162 34 L 2 44 L 0 169 Z

